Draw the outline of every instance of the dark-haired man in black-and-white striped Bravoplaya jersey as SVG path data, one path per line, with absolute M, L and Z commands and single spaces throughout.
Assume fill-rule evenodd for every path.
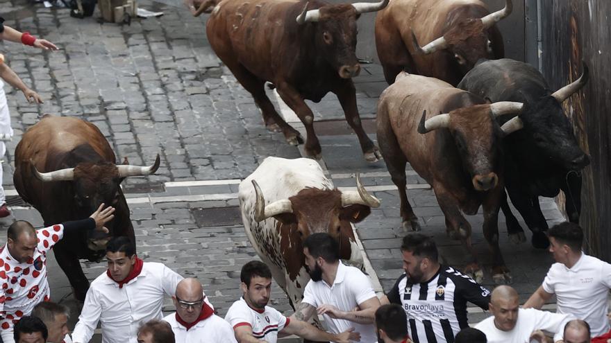
M 423 234 L 408 234 L 401 244 L 403 270 L 382 304 L 397 304 L 408 316 L 415 342 L 453 342 L 467 328 L 467 301 L 488 309 L 490 291 L 453 267 L 440 265 L 437 245 Z

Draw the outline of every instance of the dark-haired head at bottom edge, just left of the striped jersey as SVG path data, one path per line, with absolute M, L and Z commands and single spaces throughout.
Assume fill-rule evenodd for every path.
M 408 337 L 408 317 L 401 306 L 382 305 L 376 310 L 376 333 L 378 343 L 411 343 Z

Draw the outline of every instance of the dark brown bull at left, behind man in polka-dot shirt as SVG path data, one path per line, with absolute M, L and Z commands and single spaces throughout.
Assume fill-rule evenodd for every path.
M 115 153 L 92 123 L 78 118 L 44 116 L 30 127 L 15 149 L 17 193 L 40 212 L 44 225 L 87 218 L 101 203 L 115 207 L 115 219 L 106 224 L 109 234 L 67 234 L 53 251 L 76 299 L 85 299 L 89 281 L 79 258 L 99 261 L 113 236 L 135 243 L 127 202 L 119 184 L 125 177 L 149 175 L 153 166 L 115 165 Z

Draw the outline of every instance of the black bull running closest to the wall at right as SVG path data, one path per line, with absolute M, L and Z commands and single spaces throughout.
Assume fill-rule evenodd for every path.
M 537 69 L 510 59 L 480 61 L 462 79 L 459 88 L 489 100 L 524 103 L 520 115 L 524 128 L 503 140 L 505 188 L 512 204 L 533 231 L 533 246 L 546 248 L 547 222 L 539 207 L 539 195 L 555 197 L 560 190 L 567 197 L 571 222 L 579 222 L 581 211 L 580 170 L 589 164 L 560 104 L 585 85 L 588 69 L 583 65 L 579 80 L 552 92 Z M 505 119 L 506 120 L 506 119 Z M 501 124 L 503 120 L 501 119 Z M 501 206 L 510 238 L 524 242 L 524 230 L 511 213 L 505 198 Z

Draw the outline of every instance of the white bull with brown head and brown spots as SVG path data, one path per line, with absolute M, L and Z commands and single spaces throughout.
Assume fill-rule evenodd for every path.
M 357 177 L 358 191 L 338 191 L 312 159 L 267 157 L 240 183 L 240 209 L 251 244 L 292 306 L 310 281 L 302 243 L 325 232 L 340 243 L 340 258 L 362 265 L 351 227 L 380 205 Z

